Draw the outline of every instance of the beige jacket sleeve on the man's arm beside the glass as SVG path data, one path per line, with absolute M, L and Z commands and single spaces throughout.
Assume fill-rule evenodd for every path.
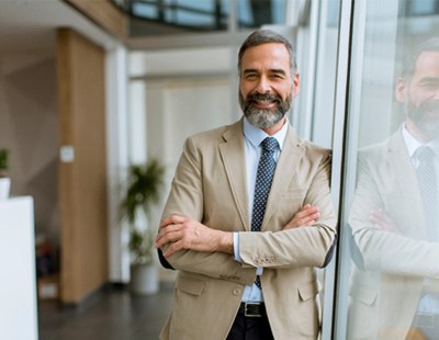
M 317 224 L 279 231 L 239 233 L 240 257 L 246 265 L 322 268 L 328 264 L 337 239 L 329 175 L 330 155 L 326 152 L 311 174 L 312 179 L 303 197 L 303 204 L 309 203 L 320 208 Z

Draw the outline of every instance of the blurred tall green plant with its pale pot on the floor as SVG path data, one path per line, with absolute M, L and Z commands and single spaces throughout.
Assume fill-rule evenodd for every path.
M 155 234 L 148 229 L 147 219 L 151 205 L 160 199 L 164 173 L 165 168 L 157 159 L 150 159 L 146 165 L 130 166 L 127 186 L 121 203 L 121 218 L 130 224 L 130 287 L 137 294 L 158 292 L 158 273 L 154 261 Z

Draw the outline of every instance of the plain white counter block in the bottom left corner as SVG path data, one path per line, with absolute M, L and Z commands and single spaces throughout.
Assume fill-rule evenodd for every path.
M 0 202 L 0 339 L 38 338 L 32 197 Z

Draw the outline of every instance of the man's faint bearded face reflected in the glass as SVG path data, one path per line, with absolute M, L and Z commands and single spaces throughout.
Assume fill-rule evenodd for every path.
M 398 83 L 396 97 L 420 139 L 439 138 L 439 52 L 420 54 L 412 79 Z

